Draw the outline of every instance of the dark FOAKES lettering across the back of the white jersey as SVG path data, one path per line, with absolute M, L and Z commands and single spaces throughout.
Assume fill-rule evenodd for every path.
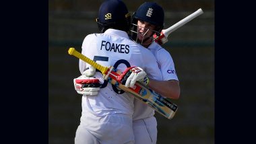
M 110 52 L 129 53 L 129 45 L 126 44 L 115 44 L 102 40 L 100 50 L 102 48 Z

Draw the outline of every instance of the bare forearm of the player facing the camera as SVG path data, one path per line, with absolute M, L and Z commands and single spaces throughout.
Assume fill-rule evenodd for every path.
M 148 87 L 150 89 L 154 90 L 161 96 L 171 98 L 174 100 L 179 99 L 180 96 L 180 86 L 179 81 L 177 80 L 169 80 L 169 81 L 156 81 L 153 79 L 150 79 L 148 83 Z

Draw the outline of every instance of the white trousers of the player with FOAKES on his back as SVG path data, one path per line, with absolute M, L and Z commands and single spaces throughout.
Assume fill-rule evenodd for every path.
M 132 118 L 127 114 L 98 117 L 82 116 L 75 133 L 75 144 L 134 144 Z

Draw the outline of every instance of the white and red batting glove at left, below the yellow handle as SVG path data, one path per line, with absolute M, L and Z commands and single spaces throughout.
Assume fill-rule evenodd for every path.
M 84 73 L 73 79 L 75 90 L 78 94 L 94 96 L 100 90 L 100 80 L 96 77 L 89 77 L 95 74 L 95 69 L 87 69 Z

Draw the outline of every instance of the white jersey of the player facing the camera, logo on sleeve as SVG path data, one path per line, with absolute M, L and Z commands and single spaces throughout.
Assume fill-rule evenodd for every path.
M 152 44 L 148 46 L 148 49 L 150 49 L 150 51 L 156 57 L 158 67 L 162 72 L 161 79 L 157 79 L 156 77 L 156 80 L 168 81 L 175 79 L 179 81 L 170 53 L 156 42 L 152 42 Z M 152 108 L 146 104 L 142 104 L 142 102 L 139 100 L 134 100 L 133 120 L 139 120 L 151 116 L 154 116 L 154 110 Z

